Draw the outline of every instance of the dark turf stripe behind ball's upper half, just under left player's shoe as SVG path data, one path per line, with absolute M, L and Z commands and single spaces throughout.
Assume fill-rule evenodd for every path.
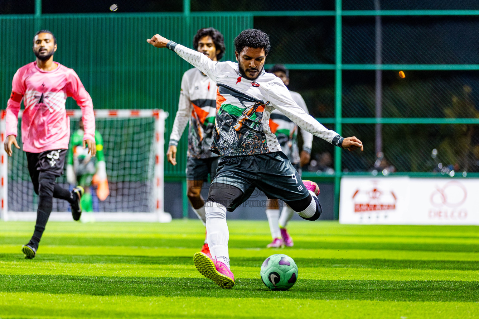
M 0 261 L 23 261 L 23 255 L 0 253 Z M 231 257 L 231 264 L 243 267 L 261 267 L 264 257 Z M 125 256 L 125 255 L 61 255 L 38 254 L 35 262 L 60 262 L 80 264 L 181 264 L 191 265 L 191 256 Z M 447 269 L 479 270 L 476 261 L 456 260 L 390 260 L 390 259 L 326 259 L 295 258 L 300 267 L 371 268 L 371 269 Z

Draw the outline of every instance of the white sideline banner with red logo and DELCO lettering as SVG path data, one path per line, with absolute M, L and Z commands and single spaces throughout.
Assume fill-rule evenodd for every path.
M 344 177 L 343 224 L 479 225 L 478 179 Z

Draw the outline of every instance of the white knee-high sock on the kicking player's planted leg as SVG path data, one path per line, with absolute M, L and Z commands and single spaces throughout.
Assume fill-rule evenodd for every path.
M 206 202 L 206 235 L 211 256 L 226 264 L 229 268 L 226 207 L 215 202 Z

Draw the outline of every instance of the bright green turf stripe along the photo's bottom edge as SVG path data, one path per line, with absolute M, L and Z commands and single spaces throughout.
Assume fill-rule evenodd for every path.
M 274 292 L 272 292 L 274 293 Z M 0 318 L 477 318 L 475 302 L 2 293 Z M 22 309 L 22 315 L 19 315 Z M 261 309 L 261 310 L 260 310 Z

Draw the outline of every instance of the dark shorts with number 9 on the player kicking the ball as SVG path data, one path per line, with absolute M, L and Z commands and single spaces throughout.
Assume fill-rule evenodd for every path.
M 231 203 L 229 211 L 250 198 L 256 187 L 268 198 L 278 198 L 285 202 L 309 196 L 301 176 L 283 152 L 222 157 L 212 183 L 232 185 L 243 193 Z

